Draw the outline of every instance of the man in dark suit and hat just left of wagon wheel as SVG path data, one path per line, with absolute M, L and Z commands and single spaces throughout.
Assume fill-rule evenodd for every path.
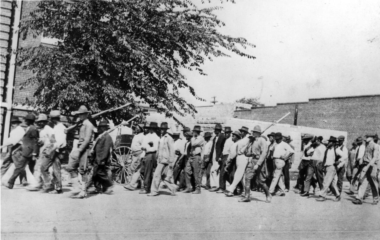
M 110 163 L 111 151 L 112 151 L 112 138 L 108 134 L 109 129 L 108 121 L 100 121 L 98 125 L 99 136 L 95 140 L 94 153 L 93 153 L 93 175 L 92 179 L 94 186 L 98 188 L 98 191 L 102 191 L 105 194 L 112 192 L 112 182 L 108 178 L 107 164 Z M 100 186 L 102 189 L 99 189 Z

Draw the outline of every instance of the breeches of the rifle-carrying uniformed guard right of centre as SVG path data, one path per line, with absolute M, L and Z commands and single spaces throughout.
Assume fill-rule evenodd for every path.
M 249 197 L 251 191 L 251 180 L 256 177 L 256 183 L 258 184 L 257 188 L 262 188 L 265 195 L 269 197 L 269 189 L 265 184 L 266 174 L 263 172 L 263 165 L 258 166 L 256 170 L 253 170 L 254 166 L 255 163 L 250 161 L 245 168 L 245 196 Z

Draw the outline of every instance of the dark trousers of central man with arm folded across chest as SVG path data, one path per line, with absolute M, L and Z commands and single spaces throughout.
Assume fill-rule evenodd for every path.
M 185 175 L 186 189 L 195 189 L 195 191 L 200 192 L 202 181 L 201 156 L 190 156 L 185 167 Z M 195 183 L 194 187 L 192 183 Z

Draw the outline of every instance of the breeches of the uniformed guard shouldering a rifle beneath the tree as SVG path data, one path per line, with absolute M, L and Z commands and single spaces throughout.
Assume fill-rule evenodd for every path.
M 69 155 L 69 162 L 67 165 L 68 172 L 70 173 L 71 183 L 78 185 L 78 173 L 82 176 L 81 181 L 81 194 L 87 191 L 87 179 L 88 179 L 88 160 L 87 149 L 78 154 L 77 149 L 73 149 Z

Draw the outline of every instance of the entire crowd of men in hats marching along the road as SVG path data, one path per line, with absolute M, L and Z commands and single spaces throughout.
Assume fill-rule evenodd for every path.
M 68 172 L 73 192 L 72 198 L 83 199 L 91 183 L 93 193 L 112 192 L 112 176 L 109 167 L 112 138 L 108 134 L 108 121 L 100 121 L 97 137 L 94 125 L 88 119 L 89 111 L 80 106 L 75 115 L 79 119 L 78 142 L 69 155 Z M 49 118 L 48 118 L 49 117 Z M 25 167 L 28 166 L 35 178 L 29 184 L 29 191 L 49 194 L 62 193 L 61 162 L 66 147 L 68 130 L 60 121 L 60 111 L 38 115 L 28 114 L 22 121 L 13 117 L 12 130 L 1 148 L 8 147 L 1 166 L 3 176 L 14 163 L 15 170 L 7 183 L 12 189 L 19 177 L 21 184 L 27 185 Z M 53 126 L 53 127 L 51 127 Z M 214 137 L 211 132 L 203 136 L 200 126 L 183 129 L 184 139 L 173 133 L 167 122 L 158 127 L 157 122 L 138 124 L 131 143 L 132 173 L 125 189 L 147 196 L 159 195 L 158 189 L 168 188 L 171 195 L 177 192 L 199 194 L 201 189 L 224 194 L 227 197 L 241 195 L 239 202 L 250 202 L 250 192 L 259 191 L 266 195 L 270 203 L 272 196 L 285 196 L 290 189 L 289 169 L 294 162 L 294 147 L 291 137 L 280 132 L 262 135 L 261 127 L 251 131 L 242 126 L 233 131 L 231 127 L 216 124 Z M 213 138 L 212 138 L 213 137 Z M 212 140 L 211 140 L 212 138 Z M 363 198 L 372 192 L 373 203 L 378 203 L 380 180 L 380 153 L 376 134 L 358 137 L 350 151 L 344 145 L 344 136 L 323 137 L 305 135 L 302 137 L 303 153 L 298 166 L 299 175 L 294 188 L 302 197 L 320 189 L 317 201 L 325 201 L 328 194 L 334 194 L 334 201 L 342 195 L 344 174 L 350 181 L 347 194 L 358 191 L 355 204 L 362 204 Z M 363 143 L 365 142 L 365 143 Z M 90 157 L 88 157 L 90 155 Z M 89 159 L 92 170 L 89 174 Z M 49 168 L 52 167 L 52 174 Z M 79 179 L 78 176 L 81 176 Z M 206 183 L 202 184 L 202 177 Z M 228 183 L 228 184 L 227 184 Z

